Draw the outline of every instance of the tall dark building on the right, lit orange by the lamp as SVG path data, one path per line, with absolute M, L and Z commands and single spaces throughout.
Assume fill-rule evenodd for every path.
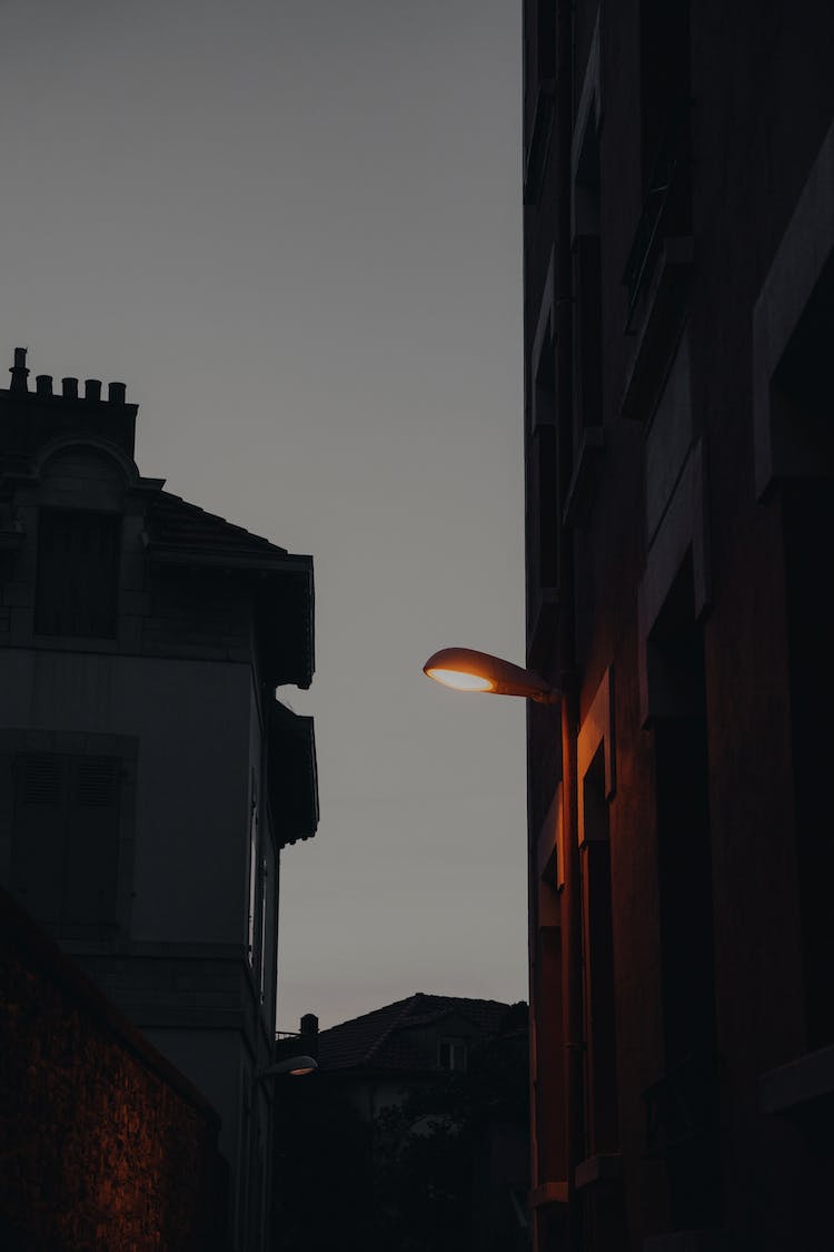
M 834 9 L 524 0 L 535 1247 L 831 1246 Z

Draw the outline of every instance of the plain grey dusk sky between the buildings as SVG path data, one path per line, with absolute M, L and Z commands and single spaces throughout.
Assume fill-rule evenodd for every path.
M 520 5 L 0 0 L 0 371 L 124 382 L 166 490 L 314 557 L 279 1022 L 525 999 Z M 1 383 L 8 386 L 8 383 Z

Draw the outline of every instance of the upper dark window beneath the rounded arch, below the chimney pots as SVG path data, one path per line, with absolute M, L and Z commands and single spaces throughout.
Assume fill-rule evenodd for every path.
M 121 517 L 41 510 L 35 634 L 114 639 Z

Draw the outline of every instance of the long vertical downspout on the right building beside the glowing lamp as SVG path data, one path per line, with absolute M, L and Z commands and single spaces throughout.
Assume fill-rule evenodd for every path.
M 573 140 L 573 0 L 556 0 L 556 354 L 560 442 L 573 439 L 573 255 L 571 160 Z M 565 449 L 566 451 L 566 449 Z M 566 498 L 566 457 L 559 448 L 559 498 Z M 568 462 L 570 463 L 570 462 Z M 565 1028 L 565 1136 L 568 1162 L 568 1247 L 579 1252 L 581 1212 L 575 1188 L 576 1166 L 584 1156 L 584 1039 L 581 988 L 581 880 L 579 871 L 579 810 L 576 737 L 579 729 L 578 675 L 574 632 L 573 530 L 559 526 L 559 665 L 561 700 L 561 804 L 564 831 L 563 977 Z

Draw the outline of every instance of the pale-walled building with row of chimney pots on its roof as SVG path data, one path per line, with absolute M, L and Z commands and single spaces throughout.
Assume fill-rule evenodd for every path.
M 266 1238 L 280 851 L 318 821 L 313 562 L 164 490 L 123 384 L 0 392 L 0 884 L 208 1098 Z

